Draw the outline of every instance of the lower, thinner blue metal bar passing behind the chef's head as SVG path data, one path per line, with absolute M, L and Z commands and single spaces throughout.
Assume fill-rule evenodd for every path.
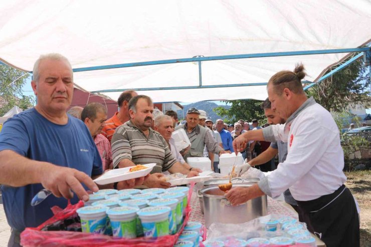
M 303 84 L 312 83 L 310 81 L 303 81 Z M 267 82 L 257 83 L 242 83 L 242 84 L 219 84 L 219 85 L 204 85 L 204 86 L 184 86 L 184 87 L 164 87 L 164 88 L 126 88 L 126 89 L 106 89 L 99 91 L 92 91 L 91 93 L 112 93 L 123 92 L 125 90 L 134 91 L 155 91 L 155 90 L 178 90 L 178 89 L 200 89 L 200 88 L 229 88 L 229 87 L 248 87 L 248 86 L 266 86 Z

